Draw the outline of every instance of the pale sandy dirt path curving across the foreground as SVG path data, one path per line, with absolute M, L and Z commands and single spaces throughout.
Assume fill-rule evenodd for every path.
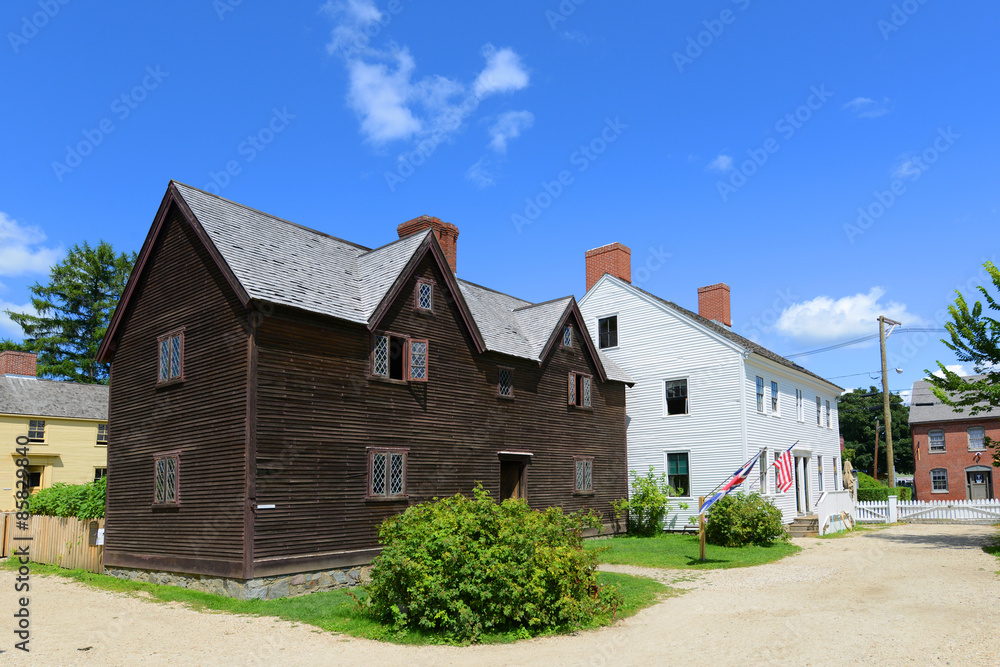
M 56 577 L 32 581 L 31 654 L 14 651 L 14 575 L 0 573 L 8 664 L 1000 664 L 994 528 L 898 526 L 803 539 L 772 565 L 698 575 L 611 628 L 507 646 L 405 647 L 273 618 L 191 611 Z M 623 568 L 615 568 L 621 570 Z M 678 579 L 680 581 L 678 581 Z M 88 650 L 79 649 L 90 647 Z

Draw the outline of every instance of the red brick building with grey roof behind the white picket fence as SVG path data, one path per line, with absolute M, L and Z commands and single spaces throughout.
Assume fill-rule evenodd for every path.
M 984 437 L 1000 440 L 1000 411 L 975 417 L 955 412 L 931 391 L 913 383 L 910 401 L 913 487 L 920 500 L 998 498 L 998 470 Z

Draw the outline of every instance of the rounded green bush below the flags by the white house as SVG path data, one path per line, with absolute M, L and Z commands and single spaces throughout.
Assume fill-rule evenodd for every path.
M 759 493 L 740 492 L 722 498 L 708 510 L 705 539 L 723 547 L 767 546 L 788 539 L 781 510 Z

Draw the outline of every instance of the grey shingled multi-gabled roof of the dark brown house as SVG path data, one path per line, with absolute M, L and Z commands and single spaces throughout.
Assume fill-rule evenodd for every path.
M 173 204 L 190 220 L 244 305 L 273 303 L 375 328 L 398 290 L 430 254 L 480 352 L 490 350 L 540 363 L 568 313 L 575 311 L 579 317 L 573 297 L 532 304 L 457 280 L 429 229 L 372 250 L 171 181 L 136 262 L 135 275 L 102 341 L 101 360 L 110 356 L 132 288 Z M 601 355 L 596 349 L 591 352 L 600 367 Z M 606 375 L 632 381 L 610 360 L 604 362 Z

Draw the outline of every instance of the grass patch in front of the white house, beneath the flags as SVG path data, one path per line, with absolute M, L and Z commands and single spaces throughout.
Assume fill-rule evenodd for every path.
M 602 563 L 678 570 L 751 567 L 773 563 L 801 551 L 788 542 L 775 542 L 768 547 L 719 547 L 709 544 L 705 547 L 705 562 L 702 563 L 698 560 L 698 536 L 683 533 L 588 540 L 584 548 L 601 549 L 598 558 Z

